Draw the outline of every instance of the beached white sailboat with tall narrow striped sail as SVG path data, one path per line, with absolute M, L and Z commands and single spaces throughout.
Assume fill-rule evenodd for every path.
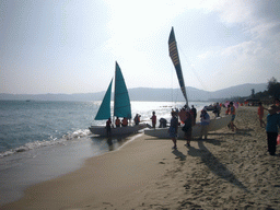
M 177 43 L 175 39 L 175 33 L 174 33 L 174 28 L 172 27 L 171 34 L 170 34 L 170 38 L 168 38 L 168 50 L 170 50 L 170 57 L 171 60 L 175 67 L 176 70 L 176 74 L 178 78 L 178 82 L 179 82 L 179 86 L 183 93 L 183 96 L 186 100 L 186 107 L 188 106 L 188 98 L 187 98 L 187 92 L 186 92 L 186 88 L 185 88 L 185 82 L 184 82 L 184 77 L 183 77 L 183 71 L 182 71 L 182 66 L 180 66 L 180 61 L 179 61 L 179 54 L 178 54 L 178 49 L 177 49 Z M 219 118 L 214 118 L 210 120 L 209 127 L 208 127 L 208 131 L 215 131 L 219 130 L 223 127 L 225 127 L 226 125 L 229 125 L 231 121 L 231 116 L 224 116 L 224 117 L 219 117 Z M 168 137 L 168 132 L 167 132 L 168 128 L 156 128 L 156 129 L 145 129 L 144 133 L 148 136 L 152 136 L 152 137 L 158 137 L 158 138 L 170 138 Z M 199 126 L 199 122 L 197 122 L 194 127 L 192 127 L 192 137 L 198 137 L 200 136 L 200 131 L 201 131 L 201 127 Z M 182 129 L 178 129 L 178 138 L 184 139 L 185 132 Z

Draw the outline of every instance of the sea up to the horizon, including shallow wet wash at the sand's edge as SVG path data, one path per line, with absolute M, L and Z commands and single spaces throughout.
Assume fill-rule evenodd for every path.
M 189 102 L 198 110 L 209 104 Z M 137 137 L 92 135 L 91 125 L 105 126 L 105 120 L 94 120 L 100 105 L 100 101 L 0 101 L 0 206 L 20 199 L 28 186 L 78 170 L 85 159 L 119 150 Z M 152 112 L 158 120 L 168 120 L 171 110 L 184 105 L 131 102 L 131 110 L 151 124 Z

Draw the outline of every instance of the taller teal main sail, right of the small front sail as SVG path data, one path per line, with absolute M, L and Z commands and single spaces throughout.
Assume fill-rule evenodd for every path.
M 117 62 L 115 73 L 114 116 L 131 119 L 130 100 L 125 79 Z

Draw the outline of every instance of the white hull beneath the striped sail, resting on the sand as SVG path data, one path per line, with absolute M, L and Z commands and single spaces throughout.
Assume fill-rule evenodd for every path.
M 224 128 L 231 122 L 231 115 L 225 117 L 220 117 L 215 119 L 211 119 L 210 125 L 208 127 L 209 131 L 215 131 L 221 128 Z M 199 137 L 201 132 L 201 126 L 199 122 L 192 127 L 192 137 Z M 156 129 L 145 129 L 144 133 L 151 137 L 158 137 L 160 139 L 170 139 L 168 128 L 156 128 Z M 182 128 L 178 128 L 178 139 L 184 139 L 185 132 Z

